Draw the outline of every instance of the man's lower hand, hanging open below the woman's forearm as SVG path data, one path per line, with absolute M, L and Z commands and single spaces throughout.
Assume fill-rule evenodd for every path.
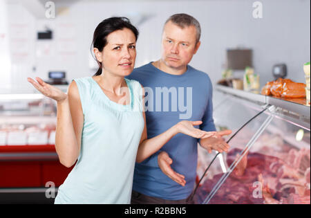
M 169 157 L 169 154 L 167 154 L 167 152 L 160 152 L 160 154 L 158 154 L 158 164 L 162 172 L 167 176 L 169 176 L 169 178 L 172 179 L 173 181 L 176 181 L 176 183 L 185 186 L 186 185 L 185 176 L 175 172 L 171 168 L 172 163 L 173 160 Z

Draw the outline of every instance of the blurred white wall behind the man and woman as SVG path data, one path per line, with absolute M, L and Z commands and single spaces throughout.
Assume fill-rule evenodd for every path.
M 100 21 L 115 15 L 149 17 L 138 25 L 136 66 L 158 60 L 162 25 L 179 12 L 200 21 L 202 45 L 191 65 L 208 73 L 213 82 L 220 79 L 226 49 L 238 46 L 254 50 L 261 86 L 273 80 L 272 66 L 280 62 L 288 65 L 288 78 L 304 82 L 303 63 L 310 61 L 310 1 L 261 2 L 263 19 L 252 16 L 252 0 L 55 1 L 55 19 L 37 19 L 20 3 L 10 3 L 10 33 L 20 31 L 23 35 L 11 37 L 13 85 L 28 89 L 28 76 L 47 79 L 48 71 L 53 70 L 66 71 L 68 80 L 92 75 L 89 60 L 93 31 Z M 46 26 L 54 31 L 54 39 L 35 40 L 37 30 Z

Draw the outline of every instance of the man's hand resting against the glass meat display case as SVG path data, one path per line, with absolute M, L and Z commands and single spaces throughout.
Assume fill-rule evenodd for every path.
M 209 153 L 211 150 L 216 150 L 217 152 L 228 152 L 229 145 L 223 139 L 223 136 L 232 134 L 231 130 L 218 131 L 215 136 L 209 138 L 201 138 L 200 145 L 207 149 Z

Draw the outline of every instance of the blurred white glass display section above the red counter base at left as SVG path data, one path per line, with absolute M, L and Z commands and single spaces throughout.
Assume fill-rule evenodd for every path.
M 41 94 L 0 94 L 0 146 L 54 145 L 56 110 Z

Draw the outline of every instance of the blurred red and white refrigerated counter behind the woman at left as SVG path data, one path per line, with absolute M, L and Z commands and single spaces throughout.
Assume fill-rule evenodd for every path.
M 41 94 L 0 95 L 0 203 L 54 202 L 46 191 L 71 170 L 55 151 L 56 120 L 55 102 Z

